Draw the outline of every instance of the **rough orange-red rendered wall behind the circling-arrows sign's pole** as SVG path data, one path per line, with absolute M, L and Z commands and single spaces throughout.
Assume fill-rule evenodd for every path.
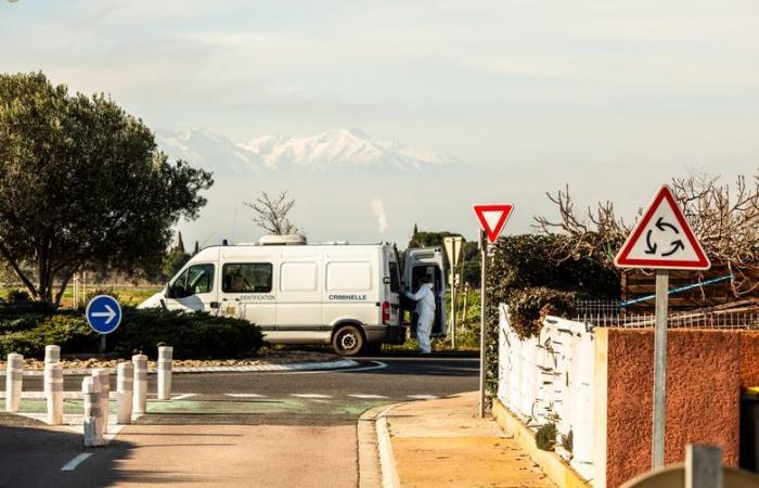
M 606 486 L 651 468 L 654 333 L 607 330 Z M 743 347 L 742 347 L 743 346 Z M 667 463 L 690 442 L 723 449 L 737 466 L 739 396 L 759 385 L 759 333 L 672 330 L 667 347 Z

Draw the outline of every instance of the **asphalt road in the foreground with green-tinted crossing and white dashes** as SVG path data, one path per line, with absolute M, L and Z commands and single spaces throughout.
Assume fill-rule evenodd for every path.
M 478 385 L 475 358 L 358 361 L 327 372 L 176 374 L 180 399 L 152 401 L 149 414 L 98 450 L 85 451 L 63 428 L 0 415 L 0 486 L 356 486 L 363 411 Z M 80 384 L 66 378 L 65 389 Z M 29 377 L 25 389 L 41 383 Z M 91 455 L 61 471 L 81 453 Z

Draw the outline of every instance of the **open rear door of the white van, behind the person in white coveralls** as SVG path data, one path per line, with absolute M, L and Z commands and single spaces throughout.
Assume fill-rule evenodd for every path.
M 446 265 L 442 247 L 420 247 L 406 251 L 403 285 L 407 291 L 416 293 L 419 280 L 426 277 L 435 292 L 435 323 L 433 337 L 446 335 Z M 416 313 L 411 314 L 411 329 L 416 330 Z

